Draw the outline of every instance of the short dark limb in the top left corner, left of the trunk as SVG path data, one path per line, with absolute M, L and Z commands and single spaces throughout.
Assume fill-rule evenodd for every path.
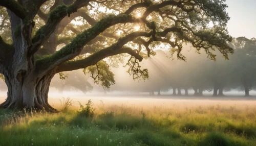
M 19 18 L 25 19 L 27 16 L 26 9 L 14 0 L 1 0 L 0 6 L 6 7 L 7 9 L 11 10 Z

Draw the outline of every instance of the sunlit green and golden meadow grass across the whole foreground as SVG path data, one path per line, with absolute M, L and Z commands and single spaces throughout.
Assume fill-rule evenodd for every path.
M 256 145 L 255 107 L 63 103 L 57 114 L 0 110 L 0 145 Z

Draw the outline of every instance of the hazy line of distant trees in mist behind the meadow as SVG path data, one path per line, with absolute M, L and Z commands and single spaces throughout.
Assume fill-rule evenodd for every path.
M 203 91 L 213 91 L 213 96 L 223 96 L 223 91 L 238 90 L 249 96 L 249 91 L 256 88 L 256 39 L 233 38 L 229 45 L 234 49 L 229 60 L 217 54 L 215 61 L 206 58 L 202 52 L 193 53 L 194 50 L 189 45 L 183 46 L 186 50 L 183 52 L 186 62 L 168 59 L 168 53 L 158 50 L 156 56 L 148 58 L 142 65 L 148 68 L 148 81 L 134 83 L 127 79 L 125 82 L 129 83 L 125 84 L 117 81 L 117 85 L 111 89 L 150 94 L 173 90 L 173 95 L 182 95 L 182 89 L 185 90 L 183 95 L 188 95 L 190 89 L 194 90 L 196 96 L 203 95 Z

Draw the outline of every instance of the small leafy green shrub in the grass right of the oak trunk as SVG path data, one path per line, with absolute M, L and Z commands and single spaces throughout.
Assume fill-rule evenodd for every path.
M 93 117 L 94 116 L 95 109 L 92 107 L 93 103 L 91 100 L 88 101 L 88 103 L 86 104 L 86 107 L 84 107 L 80 102 L 79 102 L 79 105 L 80 105 L 80 109 L 78 111 L 79 115 L 85 116 L 85 117 Z

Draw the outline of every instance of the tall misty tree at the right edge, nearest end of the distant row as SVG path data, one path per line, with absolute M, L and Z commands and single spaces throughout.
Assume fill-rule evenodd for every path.
M 245 91 L 245 96 L 249 96 L 249 91 L 255 85 L 256 76 L 254 71 L 256 66 L 256 40 L 238 37 L 230 44 L 234 48 L 235 54 L 231 56 L 231 66 L 233 75 L 233 87 L 241 86 Z

